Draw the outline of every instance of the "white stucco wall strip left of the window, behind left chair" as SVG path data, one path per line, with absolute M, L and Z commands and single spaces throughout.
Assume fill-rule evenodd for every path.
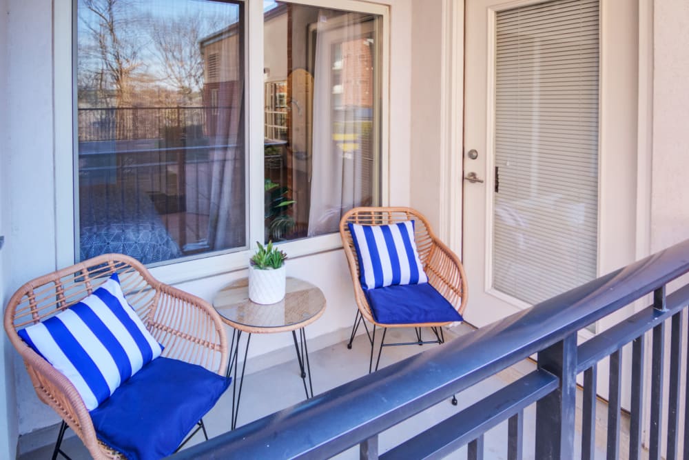
M 11 293 L 32 277 L 55 270 L 56 248 L 52 2 L 9 0 L 9 6 L 8 109 L 12 117 L 6 123 L 10 138 L 3 154 L 8 168 L 3 193 L 10 204 L 4 252 L 12 266 L 6 276 L 6 290 Z M 56 423 L 56 414 L 38 401 L 17 353 L 13 356 L 19 433 Z

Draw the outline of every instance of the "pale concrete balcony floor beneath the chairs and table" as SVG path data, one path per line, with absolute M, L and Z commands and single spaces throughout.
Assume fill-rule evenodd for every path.
M 446 329 L 445 338 L 447 341 L 459 337 L 462 334 L 471 333 L 473 329 L 466 325 L 455 326 Z M 308 332 L 308 331 L 307 331 Z M 431 332 L 428 332 L 430 334 Z M 349 331 L 340 331 L 340 337 L 345 337 Z M 411 341 L 414 332 L 412 329 L 396 330 L 392 329 L 388 333 L 390 341 Z M 336 341 L 336 337 L 333 341 Z M 253 344 L 252 347 L 258 345 Z M 311 345 L 312 341 L 309 341 Z M 346 341 L 341 341 L 333 346 L 326 346 L 320 350 L 311 350 L 310 363 L 311 374 L 313 377 L 313 391 L 318 394 L 325 390 L 361 377 L 366 374 L 369 365 L 370 346 L 365 336 L 356 337 L 351 350 L 346 347 Z M 313 343 L 317 346 L 317 343 Z M 387 347 L 383 352 L 380 366 L 409 357 L 412 354 L 428 350 L 436 345 L 420 346 L 396 346 Z M 238 426 L 265 417 L 272 412 L 292 406 L 303 401 L 305 394 L 302 381 L 299 377 L 299 368 L 294 354 L 294 348 L 278 350 L 272 354 L 255 359 L 249 358 L 247 362 L 247 375 L 244 381 L 243 394 L 241 399 Z M 287 361 L 286 361 L 287 359 Z M 282 362 L 280 362 L 282 361 Z M 276 363 L 277 362 L 277 363 Z M 379 446 L 381 452 L 397 445 L 398 443 L 422 432 L 442 419 L 446 419 L 455 414 L 458 410 L 469 406 L 475 401 L 491 394 L 495 390 L 502 388 L 507 383 L 515 381 L 522 375 L 535 369 L 532 361 L 522 361 L 516 366 L 503 370 L 499 374 L 475 385 L 464 392 L 457 394 L 458 406 L 452 406 L 450 400 L 439 403 L 433 408 L 429 408 L 420 414 L 407 419 L 398 426 L 383 432 L 380 435 Z M 575 455 L 573 458 L 580 458 L 580 420 L 581 420 L 581 391 L 577 392 L 577 436 L 575 439 Z M 232 388 L 230 388 L 218 401 L 216 406 L 204 417 L 206 429 L 209 437 L 217 436 L 229 430 L 229 419 L 232 405 Z M 596 458 L 605 458 L 606 451 L 606 418 L 607 408 L 604 403 L 600 403 L 597 409 L 597 429 Z M 50 458 L 54 447 L 54 440 L 57 436 L 58 426 L 40 430 L 26 435 L 20 441 L 20 460 L 34 460 Z M 622 420 L 621 433 L 621 452 L 620 458 L 628 452 L 628 419 Z M 534 456 L 534 437 L 535 432 L 535 406 L 531 406 L 524 411 L 524 459 L 532 459 Z M 69 430 L 68 438 L 63 441 L 63 450 L 74 460 L 89 459 L 90 455 L 83 447 L 79 438 Z M 189 441 L 189 445 L 203 441 L 203 435 L 196 434 L 194 439 Z M 502 460 L 507 458 L 507 423 L 493 428 L 486 433 L 485 437 L 485 457 L 486 459 Z M 25 453 L 21 453 L 25 452 Z M 59 457 L 60 458 L 60 457 Z M 358 446 L 355 446 L 339 454 L 337 459 L 358 459 Z M 465 459 L 466 447 L 449 456 L 451 459 Z

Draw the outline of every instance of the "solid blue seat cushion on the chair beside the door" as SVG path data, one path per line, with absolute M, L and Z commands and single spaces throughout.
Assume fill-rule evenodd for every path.
M 429 283 L 387 286 L 364 290 L 364 293 L 378 323 L 462 321 L 462 315 Z

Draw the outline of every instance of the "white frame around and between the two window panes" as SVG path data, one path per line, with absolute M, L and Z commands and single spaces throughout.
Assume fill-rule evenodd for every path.
M 74 161 L 76 148 L 76 1 L 71 8 L 54 8 L 54 62 L 70 62 L 70 66 L 54 66 L 54 171 L 55 171 L 55 246 L 56 266 L 69 266 L 76 262 L 78 237 L 76 209 L 78 196 L 75 178 L 78 163 Z M 263 79 L 263 1 L 245 0 L 245 139 L 247 146 L 247 245 L 224 251 L 150 264 L 152 274 L 166 283 L 194 281 L 218 274 L 247 268 L 248 260 L 256 249 L 256 241 L 263 241 L 263 129 L 265 123 L 265 91 Z M 361 0 L 291 0 L 317 8 L 346 10 L 378 14 L 382 28 L 380 56 L 380 174 L 377 192 L 380 205 L 389 203 L 389 88 L 390 88 L 390 7 L 389 1 Z M 65 114 L 70 114 L 65 117 Z M 291 259 L 342 248 L 338 232 L 285 241 L 280 243 Z

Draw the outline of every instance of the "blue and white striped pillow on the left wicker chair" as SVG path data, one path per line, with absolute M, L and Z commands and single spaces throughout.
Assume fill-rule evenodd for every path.
M 70 379 L 88 410 L 163 351 L 125 300 L 116 273 L 83 301 L 18 333 Z

